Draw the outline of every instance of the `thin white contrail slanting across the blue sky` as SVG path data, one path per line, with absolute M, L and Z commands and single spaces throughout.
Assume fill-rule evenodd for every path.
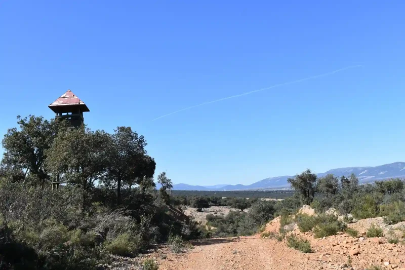
M 250 94 L 253 94 L 253 93 L 256 93 L 256 92 L 268 90 L 268 89 L 275 88 L 275 87 L 280 87 L 280 86 L 285 86 L 285 85 L 291 85 L 291 84 L 296 84 L 296 83 L 300 83 L 300 82 L 304 82 L 304 81 L 308 81 L 308 80 L 312 80 L 312 79 L 316 79 L 316 78 L 320 78 L 320 77 L 325 77 L 325 76 L 329 76 L 329 75 L 332 75 L 332 74 L 334 74 L 334 73 L 337 73 L 337 72 L 340 72 L 340 71 L 343 71 L 343 70 L 346 70 L 346 69 L 351 69 L 351 68 L 360 67 L 360 66 L 362 66 L 362 65 L 347 66 L 347 67 L 343 67 L 343 68 L 340 68 L 340 69 L 337 69 L 337 70 L 334 70 L 334 71 L 331 71 L 331 72 L 328 72 L 328 73 L 323 73 L 323 74 L 319 74 L 319 75 L 314 75 L 314 76 L 310 76 L 310 77 L 307 77 L 307 78 L 304 78 L 304 79 L 300 79 L 300 80 L 296 80 L 296 81 L 292 81 L 292 82 L 277 84 L 277 85 L 273 85 L 273 86 L 270 86 L 270 87 L 266 87 L 266 88 L 262 88 L 262 89 L 258 89 L 258 90 L 254 90 L 254 91 L 250 91 L 250 92 L 246 92 L 246 93 L 234 95 L 234 96 L 229 96 L 229 97 L 224 97 L 224 98 L 220 98 L 220 99 L 216 99 L 216 100 L 212 100 L 212 101 L 207 101 L 207 102 L 204 102 L 204 103 L 201 103 L 201 104 L 198 104 L 198 105 L 194 105 L 194 106 L 191 106 L 191 107 L 187 107 L 187 108 L 183 108 L 183 109 L 180 109 L 180 110 L 176 110 L 176 111 L 170 112 L 170 113 L 165 114 L 165 115 L 161 115 L 161 116 L 159 116 L 158 118 L 153 119 L 152 121 L 156 121 L 156 120 L 158 120 L 158 119 L 160 119 L 160 118 L 168 117 L 169 115 L 178 113 L 178 112 L 183 111 L 183 110 L 189 110 L 189 109 L 192 109 L 192 108 L 195 108 L 195 107 L 199 107 L 199 106 L 203 106 L 203 105 L 207 105 L 207 104 L 219 102 L 219 101 L 226 100 L 226 99 L 231 99 L 231 98 L 246 96 L 246 95 L 250 95 Z

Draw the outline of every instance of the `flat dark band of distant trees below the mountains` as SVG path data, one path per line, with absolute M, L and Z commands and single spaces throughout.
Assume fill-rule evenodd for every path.
M 172 190 L 173 196 L 205 196 L 205 197 L 236 197 L 236 198 L 271 198 L 284 199 L 294 195 L 294 190 L 234 190 L 234 191 L 206 191 L 206 190 Z

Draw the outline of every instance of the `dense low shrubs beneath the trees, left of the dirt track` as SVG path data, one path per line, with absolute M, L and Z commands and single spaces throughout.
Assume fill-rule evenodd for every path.
M 175 239 L 201 235 L 194 221 L 185 216 L 179 220 L 170 206 L 157 206 L 156 196 L 143 202 L 142 210 L 131 204 L 109 210 L 93 203 L 85 212 L 80 190 L 74 187 L 52 191 L 3 181 L 0 196 L 4 199 L 0 265 L 14 263 L 15 268 L 19 264 L 27 269 L 94 268 L 108 262 L 107 254 L 144 252 L 149 245 L 165 241 L 169 232 Z

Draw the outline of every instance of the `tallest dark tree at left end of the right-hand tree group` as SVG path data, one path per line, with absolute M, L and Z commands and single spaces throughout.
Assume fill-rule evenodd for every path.
M 302 202 L 309 205 L 315 195 L 316 178 L 316 174 L 307 169 L 301 174 L 297 174 L 294 178 L 289 178 L 287 181 L 300 194 Z

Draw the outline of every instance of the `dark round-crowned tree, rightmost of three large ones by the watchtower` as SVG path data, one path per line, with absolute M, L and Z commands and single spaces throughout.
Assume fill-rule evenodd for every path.
M 109 136 L 106 181 L 116 182 L 117 205 L 121 204 L 121 186 L 139 184 L 154 185 L 152 177 L 156 163 L 147 156 L 144 137 L 133 132 L 131 127 L 117 127 Z

